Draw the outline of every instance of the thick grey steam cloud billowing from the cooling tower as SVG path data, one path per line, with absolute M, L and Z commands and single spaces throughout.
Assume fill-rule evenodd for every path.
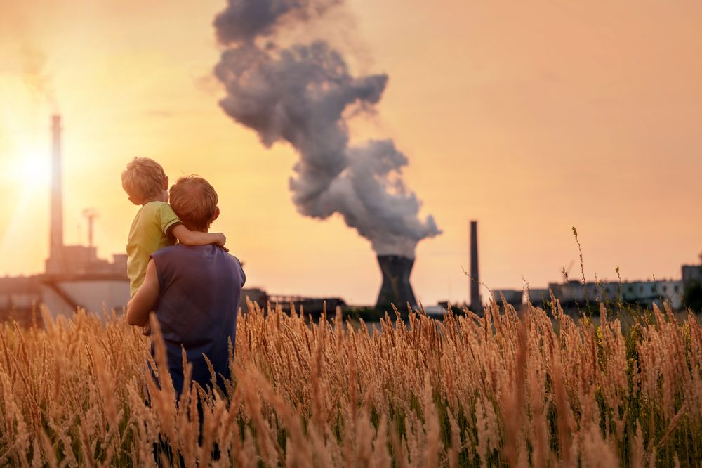
M 220 106 L 255 130 L 264 145 L 287 141 L 300 160 L 290 179 L 293 202 L 305 216 L 340 213 L 379 255 L 414 257 L 417 242 L 441 231 L 418 218 L 420 201 L 401 178 L 407 158 L 392 140 L 350 146 L 344 113 L 372 111 L 385 74 L 354 77 L 325 41 L 282 48 L 287 25 L 309 22 L 341 0 L 228 0 L 215 18 L 227 46 L 215 67 L 227 96 Z

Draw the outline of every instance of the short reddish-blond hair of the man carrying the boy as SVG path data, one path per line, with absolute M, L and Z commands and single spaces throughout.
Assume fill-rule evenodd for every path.
M 181 177 L 171 187 L 171 207 L 191 230 L 208 230 L 217 210 L 217 192 L 197 174 Z

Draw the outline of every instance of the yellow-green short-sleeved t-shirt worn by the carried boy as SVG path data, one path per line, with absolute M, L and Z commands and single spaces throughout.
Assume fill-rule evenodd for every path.
M 164 202 L 148 202 L 134 217 L 127 239 L 127 276 L 130 297 L 134 297 L 144 282 L 146 266 L 149 264 L 151 254 L 161 247 L 176 243 L 176 239 L 168 233 L 178 223 L 180 219 L 173 212 L 173 208 Z

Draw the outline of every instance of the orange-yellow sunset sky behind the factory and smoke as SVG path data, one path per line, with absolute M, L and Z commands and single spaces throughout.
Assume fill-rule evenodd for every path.
M 64 122 L 65 241 L 124 253 L 135 156 L 219 194 L 212 230 L 269 294 L 371 304 L 370 243 L 296 212 L 293 148 L 265 148 L 219 107 L 224 0 L 0 0 L 0 275 L 43 271 L 49 119 Z M 443 233 L 416 249 L 418 300 L 464 301 L 469 221 L 486 287 L 680 278 L 702 252 L 702 4 L 347 0 L 300 32 L 355 74 L 385 73 L 352 140 L 392 138 L 406 186 Z M 483 295 L 488 294 L 483 290 Z

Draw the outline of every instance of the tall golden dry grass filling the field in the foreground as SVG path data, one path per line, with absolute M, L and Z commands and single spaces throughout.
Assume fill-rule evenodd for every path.
M 253 308 L 233 382 L 178 403 L 145 378 L 147 339 L 122 318 L 6 324 L 0 464 L 149 466 L 157 447 L 186 466 L 698 466 L 698 322 L 654 308 L 624 335 L 604 307 L 600 327 L 552 313 L 558 332 L 541 309 L 493 304 L 371 334 Z

